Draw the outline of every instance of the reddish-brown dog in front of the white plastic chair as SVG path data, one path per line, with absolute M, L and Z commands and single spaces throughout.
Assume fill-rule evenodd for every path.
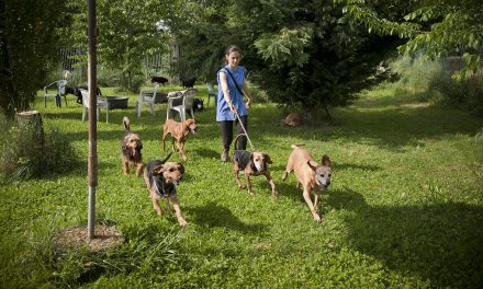
M 175 139 L 178 147 L 179 155 L 186 161 L 188 158 L 184 154 L 184 142 L 187 141 L 190 132 L 195 135 L 198 132 L 198 125 L 194 119 L 189 118 L 184 123 L 178 123 L 175 119 L 166 119 L 162 126 L 162 152 L 165 152 L 165 141 L 168 134 L 171 135 L 171 151 L 175 151 Z

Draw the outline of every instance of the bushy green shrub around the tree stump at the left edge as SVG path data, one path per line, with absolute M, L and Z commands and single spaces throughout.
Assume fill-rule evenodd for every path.
M 52 173 L 64 173 L 77 163 L 74 148 L 56 127 L 47 127 L 44 143 L 35 126 L 19 127 L 0 115 L 0 181 L 23 181 Z

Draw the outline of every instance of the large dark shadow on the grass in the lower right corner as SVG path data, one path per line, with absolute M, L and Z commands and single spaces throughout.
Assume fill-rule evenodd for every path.
M 369 206 L 361 194 L 329 192 L 333 208 L 356 212 L 346 219 L 348 244 L 391 269 L 429 279 L 437 287 L 483 284 L 483 209 L 460 203 Z

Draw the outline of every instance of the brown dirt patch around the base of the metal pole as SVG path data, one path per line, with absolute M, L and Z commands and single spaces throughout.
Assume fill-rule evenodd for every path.
M 89 252 L 103 252 L 119 246 L 124 236 L 115 227 L 96 226 L 94 238 L 88 240 L 87 226 L 67 228 L 54 236 L 54 251 L 65 252 L 87 247 Z

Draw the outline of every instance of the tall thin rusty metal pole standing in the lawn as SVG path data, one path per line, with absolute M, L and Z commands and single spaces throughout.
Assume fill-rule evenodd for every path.
M 88 213 L 88 240 L 94 238 L 96 224 L 96 187 L 98 185 L 98 151 L 97 151 L 97 42 L 96 42 L 96 0 L 88 1 L 88 85 L 89 85 L 89 157 L 88 157 L 88 183 L 89 183 L 89 213 Z

